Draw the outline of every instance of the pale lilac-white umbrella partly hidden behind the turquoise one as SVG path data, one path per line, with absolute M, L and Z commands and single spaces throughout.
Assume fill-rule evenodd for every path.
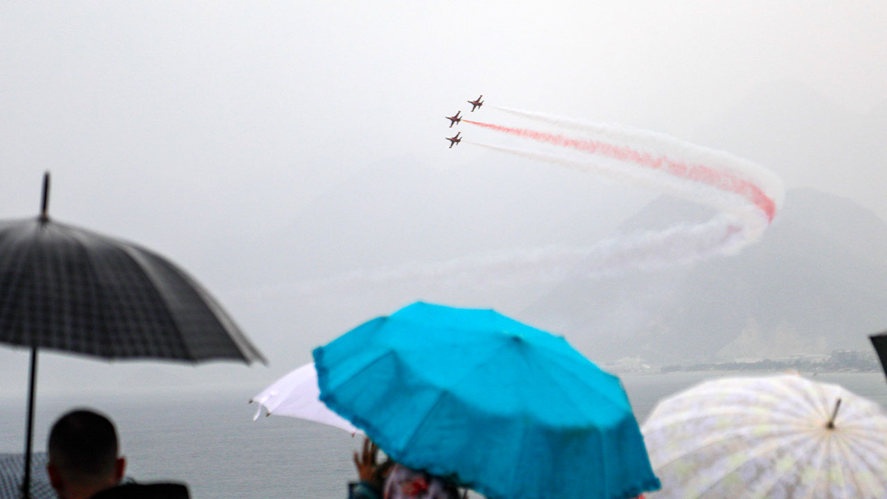
M 329 424 L 351 433 L 352 436 L 360 432 L 353 424 L 326 408 L 326 405 L 320 401 L 318 371 L 314 368 L 314 362 L 281 377 L 253 397 L 250 402 L 259 404 L 259 410 L 253 417 L 254 421 L 262 413 L 262 408 L 265 408 L 267 416 L 274 414 L 298 417 Z

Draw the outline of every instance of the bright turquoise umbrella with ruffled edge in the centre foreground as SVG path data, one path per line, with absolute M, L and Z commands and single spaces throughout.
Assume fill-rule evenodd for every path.
M 619 379 L 495 311 L 416 303 L 314 360 L 320 399 L 395 461 L 491 499 L 659 488 Z

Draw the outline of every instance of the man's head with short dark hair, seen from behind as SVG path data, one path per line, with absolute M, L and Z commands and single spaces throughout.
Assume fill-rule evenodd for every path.
M 114 424 L 97 412 L 75 409 L 59 417 L 46 447 L 46 471 L 61 499 L 90 497 L 123 478 L 126 461 L 118 456 Z

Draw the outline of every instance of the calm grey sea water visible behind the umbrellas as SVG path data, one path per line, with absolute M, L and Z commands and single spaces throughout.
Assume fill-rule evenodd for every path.
M 751 373 L 624 375 L 632 408 L 642 423 L 658 400 L 718 376 Z M 812 379 L 841 384 L 887 407 L 881 373 L 820 374 Z M 52 421 L 69 408 L 98 408 L 114 419 L 128 461 L 127 474 L 140 481 L 187 482 L 195 499 L 341 499 L 355 479 L 352 453 L 361 438 L 285 416 L 253 421 L 243 391 L 164 391 L 40 396 L 35 450 L 44 450 Z M 25 400 L 0 396 L 0 452 L 21 452 Z

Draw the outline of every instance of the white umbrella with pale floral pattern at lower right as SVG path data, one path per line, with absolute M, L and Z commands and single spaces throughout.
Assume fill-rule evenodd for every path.
M 666 498 L 887 497 L 887 416 L 801 376 L 725 378 L 659 403 L 641 428 Z

